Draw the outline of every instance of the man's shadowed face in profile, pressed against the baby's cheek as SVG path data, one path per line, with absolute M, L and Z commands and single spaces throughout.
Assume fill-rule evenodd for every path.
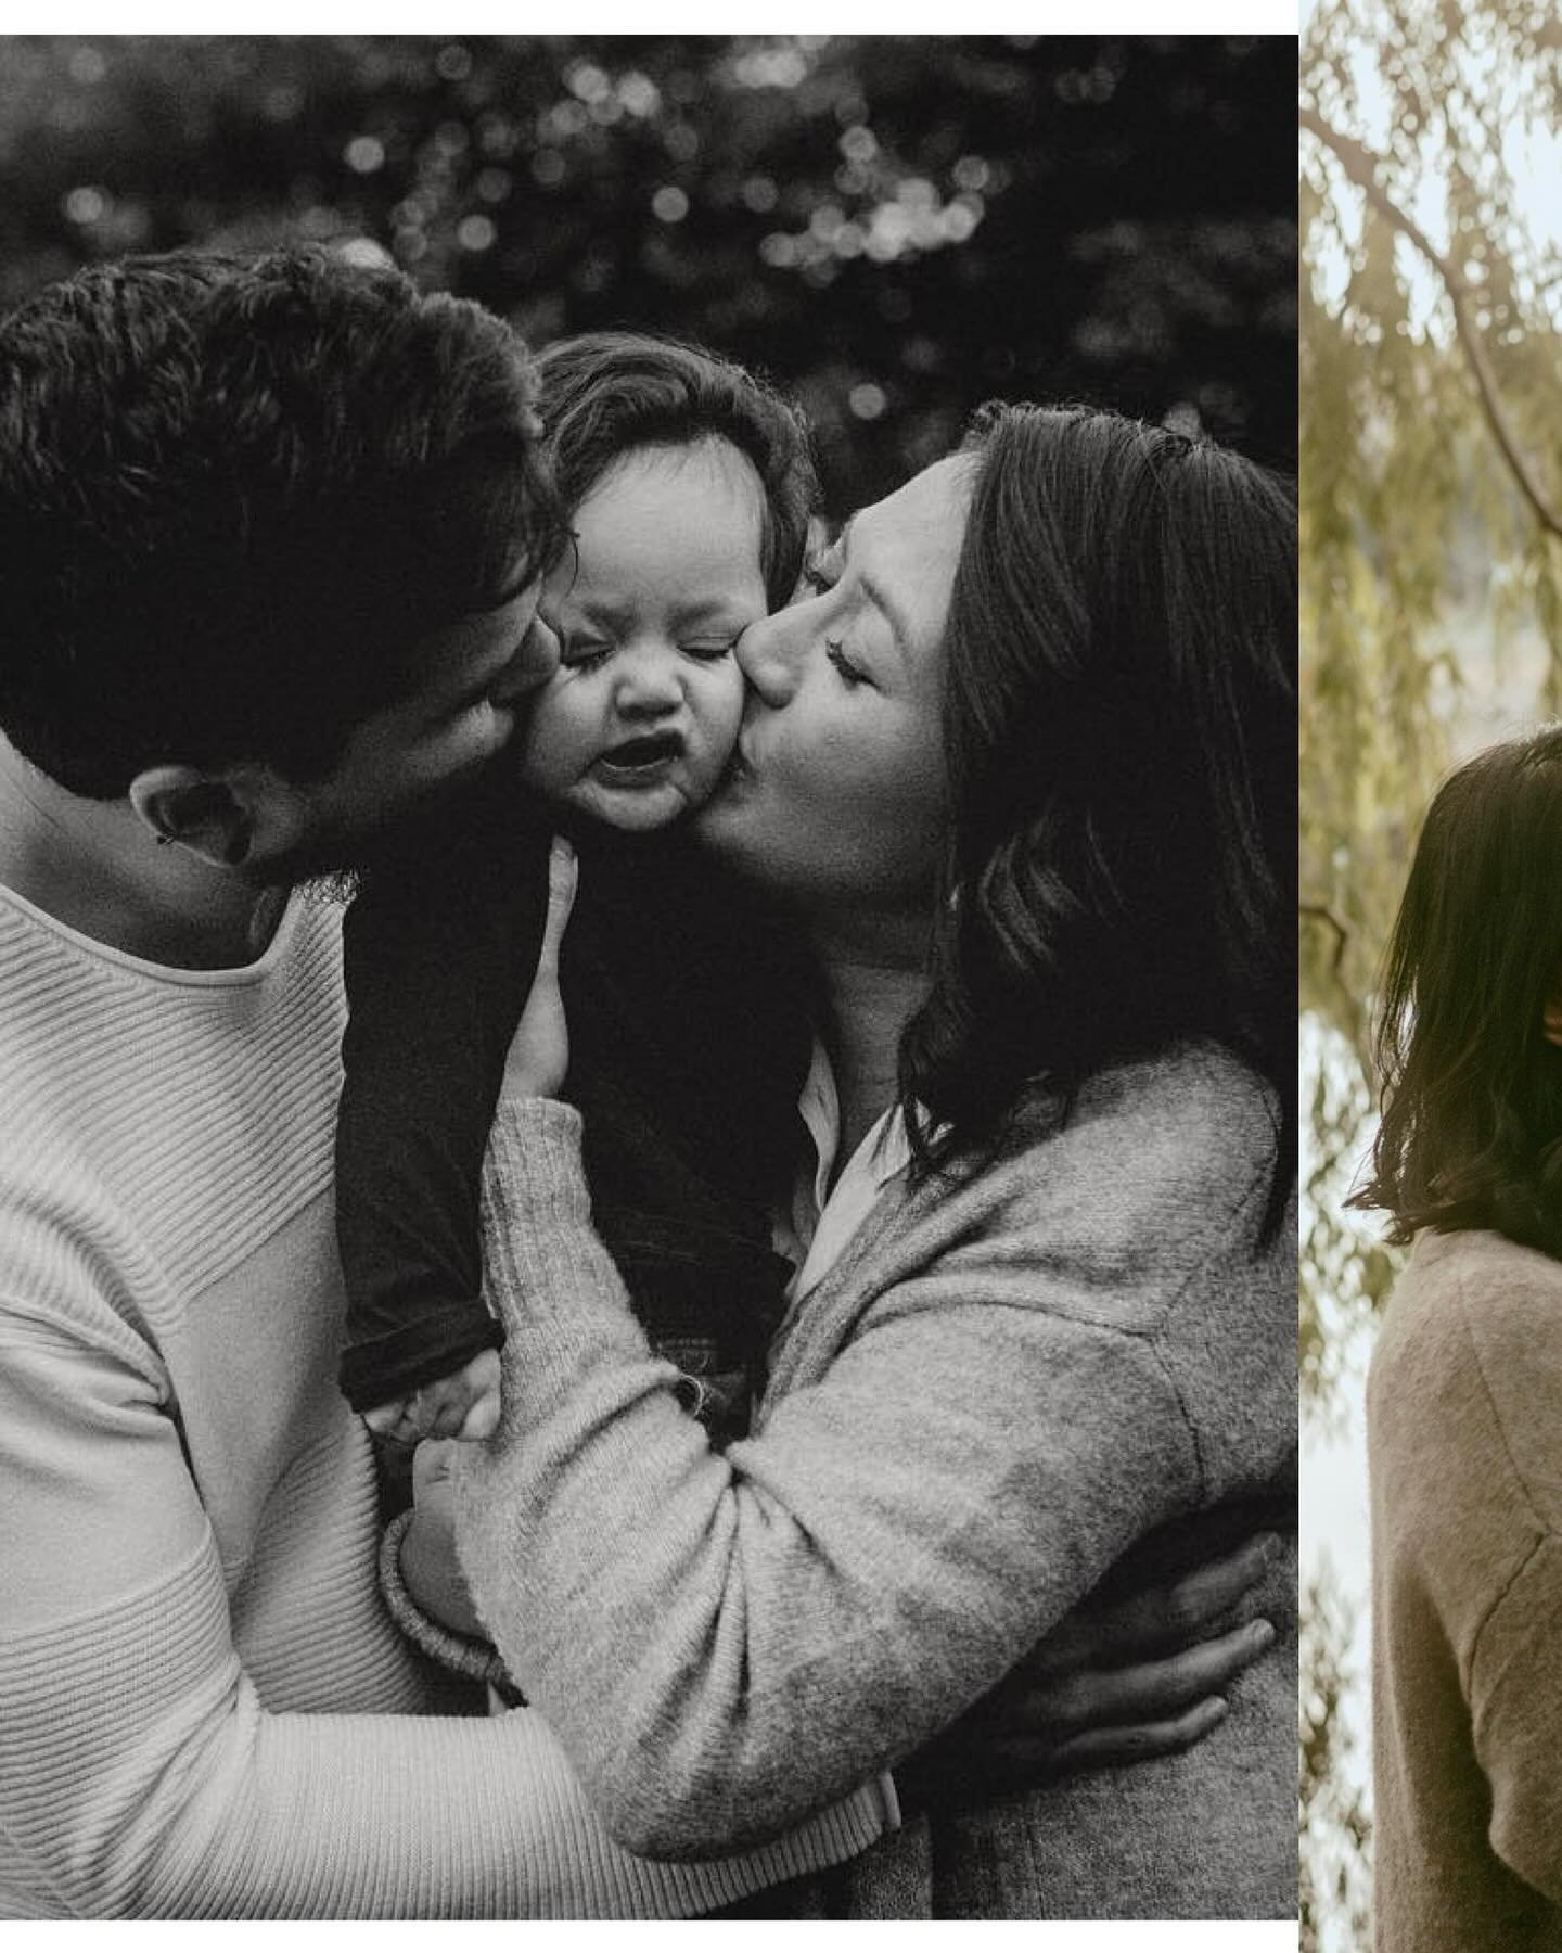
M 527 695 L 558 666 L 537 594 L 531 582 L 496 609 L 422 639 L 410 689 L 357 727 L 324 779 L 289 785 L 295 838 L 252 859 L 250 873 L 281 883 L 353 867 L 400 820 L 428 812 L 496 758 Z

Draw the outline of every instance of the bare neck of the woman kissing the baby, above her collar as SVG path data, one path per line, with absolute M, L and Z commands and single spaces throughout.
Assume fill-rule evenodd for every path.
M 922 918 L 894 918 L 867 926 L 853 920 L 847 930 L 816 926 L 810 934 L 828 1002 L 824 1041 L 840 1096 L 840 1172 L 894 1103 L 900 1035 L 929 988 L 927 932 Z

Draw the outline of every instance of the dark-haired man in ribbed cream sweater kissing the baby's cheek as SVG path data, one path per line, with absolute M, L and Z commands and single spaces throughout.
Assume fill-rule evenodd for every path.
M 435 814 L 553 670 L 537 432 L 500 320 L 318 254 L 0 320 L 0 1916 L 681 1916 L 892 1822 L 869 1785 L 633 1859 L 379 1603 L 340 914 L 295 885 Z M 1076 1676 L 1064 1730 L 1168 1701 L 1187 1740 L 1232 1666 Z

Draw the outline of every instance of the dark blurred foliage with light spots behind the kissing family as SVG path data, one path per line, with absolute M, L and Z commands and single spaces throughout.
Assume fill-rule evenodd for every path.
M 838 504 L 990 395 L 1295 465 L 1295 43 L 12 37 L 0 297 L 357 240 L 535 344 L 635 324 L 802 396 Z

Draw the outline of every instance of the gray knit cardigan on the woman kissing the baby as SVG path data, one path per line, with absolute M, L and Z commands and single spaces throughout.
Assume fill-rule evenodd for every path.
M 484 1187 L 508 1326 L 463 1476 L 484 1621 L 631 1849 L 769 1838 L 908 1756 L 1103 1580 L 1289 1527 L 1281 1639 L 1191 1752 L 918 1818 L 853 1916 L 1295 1914 L 1295 1221 L 1275 1111 L 1187 1047 L 1099 1076 L 951 1189 L 881 1195 L 726 1455 L 590 1225 L 578 1115 L 506 1103 Z M 473 1447 L 476 1449 L 476 1447 Z

